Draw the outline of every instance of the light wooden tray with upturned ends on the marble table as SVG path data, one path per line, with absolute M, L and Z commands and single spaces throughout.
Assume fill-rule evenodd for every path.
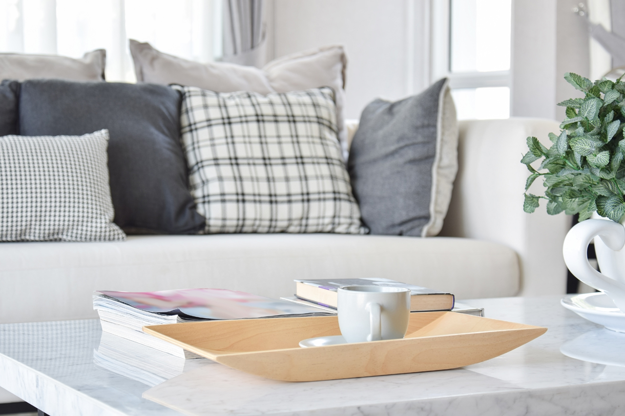
M 336 316 L 213 320 L 143 330 L 207 359 L 292 382 L 446 370 L 489 360 L 546 332 L 456 312 L 417 312 L 404 339 L 299 347 L 299 341 L 341 335 Z

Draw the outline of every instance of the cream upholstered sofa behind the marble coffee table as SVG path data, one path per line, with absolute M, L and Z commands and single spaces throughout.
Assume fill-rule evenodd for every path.
M 94 290 L 222 287 L 280 297 L 292 295 L 293 279 L 302 278 L 386 277 L 457 299 L 563 294 L 562 241 L 571 219 L 549 216 L 544 207 L 531 215 L 522 210 L 526 137 L 544 140 L 550 131 L 556 122 L 461 122 L 459 172 L 441 237 L 141 235 L 125 242 L 0 243 L 0 323 L 96 317 Z M 0 389 L 0 403 L 16 401 Z

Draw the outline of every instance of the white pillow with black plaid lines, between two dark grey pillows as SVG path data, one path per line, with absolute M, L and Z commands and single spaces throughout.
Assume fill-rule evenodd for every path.
M 367 231 L 341 157 L 332 89 L 263 96 L 176 87 L 205 233 Z

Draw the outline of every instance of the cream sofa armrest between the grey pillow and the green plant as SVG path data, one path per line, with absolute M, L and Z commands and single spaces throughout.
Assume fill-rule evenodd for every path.
M 548 215 L 546 204 L 534 214 L 523 211 L 529 172 L 519 161 L 526 138 L 535 136 L 550 147 L 549 132 L 558 123 L 511 118 L 459 123 L 459 169 L 449 212 L 440 235 L 499 242 L 516 250 L 521 260 L 520 295 L 566 293 L 562 242 L 571 217 Z M 529 192 L 543 194 L 542 181 Z

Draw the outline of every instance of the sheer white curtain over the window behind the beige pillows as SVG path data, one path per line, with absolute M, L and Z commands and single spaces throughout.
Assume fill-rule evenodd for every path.
M 221 0 L 0 0 L 0 52 L 106 49 L 106 79 L 134 82 L 128 39 L 209 62 L 222 54 L 221 22 Z

